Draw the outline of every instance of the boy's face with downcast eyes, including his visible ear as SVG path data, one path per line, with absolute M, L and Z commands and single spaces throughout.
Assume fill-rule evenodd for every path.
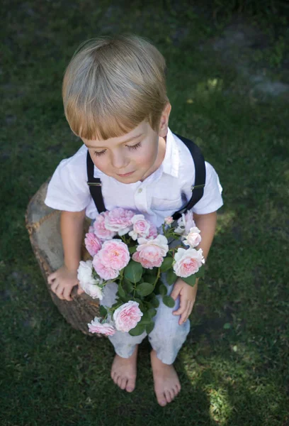
M 158 133 L 147 121 L 142 121 L 130 133 L 118 138 L 106 141 L 89 141 L 83 138 L 96 167 L 122 183 L 145 180 L 164 160 L 164 138 L 170 111 L 171 105 L 168 104 L 162 114 Z

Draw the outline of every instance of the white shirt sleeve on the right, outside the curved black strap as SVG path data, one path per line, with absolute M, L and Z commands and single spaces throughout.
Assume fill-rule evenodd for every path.
M 215 212 L 222 207 L 222 186 L 215 169 L 205 161 L 205 187 L 203 197 L 194 207 L 193 212 L 196 214 L 208 214 Z

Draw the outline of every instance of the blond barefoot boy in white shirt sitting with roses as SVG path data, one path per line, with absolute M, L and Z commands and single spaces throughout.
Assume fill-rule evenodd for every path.
M 45 203 L 62 210 L 64 249 L 64 265 L 48 282 L 60 299 L 72 300 L 71 290 L 78 284 L 84 217 L 94 219 L 98 214 L 87 185 L 87 152 L 94 162 L 94 177 L 101 178 L 106 209 L 132 209 L 156 226 L 191 197 L 195 169 L 188 148 L 169 130 L 165 61 L 147 40 L 118 36 L 82 45 L 65 72 L 62 96 L 67 121 L 84 146 L 62 160 L 47 190 Z M 206 258 L 215 233 L 216 210 L 222 206 L 222 187 L 212 166 L 205 163 L 205 168 L 203 197 L 193 213 L 202 236 L 198 248 Z M 106 285 L 103 305 L 114 302 L 116 286 L 111 284 Z M 175 307 L 161 303 L 149 334 L 154 391 L 162 406 L 181 389 L 173 363 L 190 329 L 188 316 L 198 283 L 192 288 L 179 278 L 171 287 Z M 131 392 L 137 376 L 137 345 L 146 334 L 125 334 L 109 337 L 116 353 L 111 378 Z

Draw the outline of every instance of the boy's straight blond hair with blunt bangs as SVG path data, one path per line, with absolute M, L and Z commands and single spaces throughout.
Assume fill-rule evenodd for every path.
M 123 136 L 142 121 L 158 131 L 166 96 L 166 62 L 137 35 L 83 43 L 64 74 L 64 112 L 81 138 Z

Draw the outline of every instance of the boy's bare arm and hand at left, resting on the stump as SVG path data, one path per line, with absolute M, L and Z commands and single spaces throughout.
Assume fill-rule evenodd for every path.
M 81 261 L 81 241 L 84 229 L 85 209 L 81 212 L 61 212 L 60 229 L 64 251 L 64 265 L 49 275 L 51 290 L 62 300 L 72 300 L 70 295 L 78 284 L 77 269 Z M 79 289 L 79 294 L 81 289 Z

